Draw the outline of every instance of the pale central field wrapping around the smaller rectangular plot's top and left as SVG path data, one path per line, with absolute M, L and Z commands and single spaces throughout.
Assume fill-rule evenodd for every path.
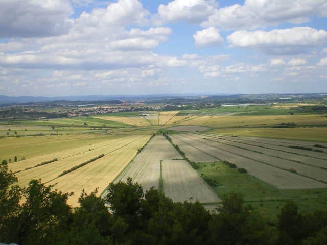
M 157 135 L 146 145 L 130 164 L 122 171 L 115 182 L 126 181 L 128 177 L 133 182 L 142 185 L 143 190 L 152 186 L 159 187 L 160 160 L 182 159 L 171 143 L 162 135 Z

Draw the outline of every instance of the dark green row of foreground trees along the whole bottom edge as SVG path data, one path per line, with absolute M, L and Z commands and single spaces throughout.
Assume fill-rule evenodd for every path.
M 52 190 L 40 180 L 27 188 L 0 165 L 0 242 L 17 244 L 325 244 L 327 212 L 308 215 L 288 202 L 276 227 L 244 207 L 243 195 L 230 192 L 215 213 L 198 202 L 174 203 L 158 190 L 111 183 L 104 198 L 98 190 L 79 197 L 72 209 L 72 193 Z M 109 211 L 107 206 L 110 206 Z

